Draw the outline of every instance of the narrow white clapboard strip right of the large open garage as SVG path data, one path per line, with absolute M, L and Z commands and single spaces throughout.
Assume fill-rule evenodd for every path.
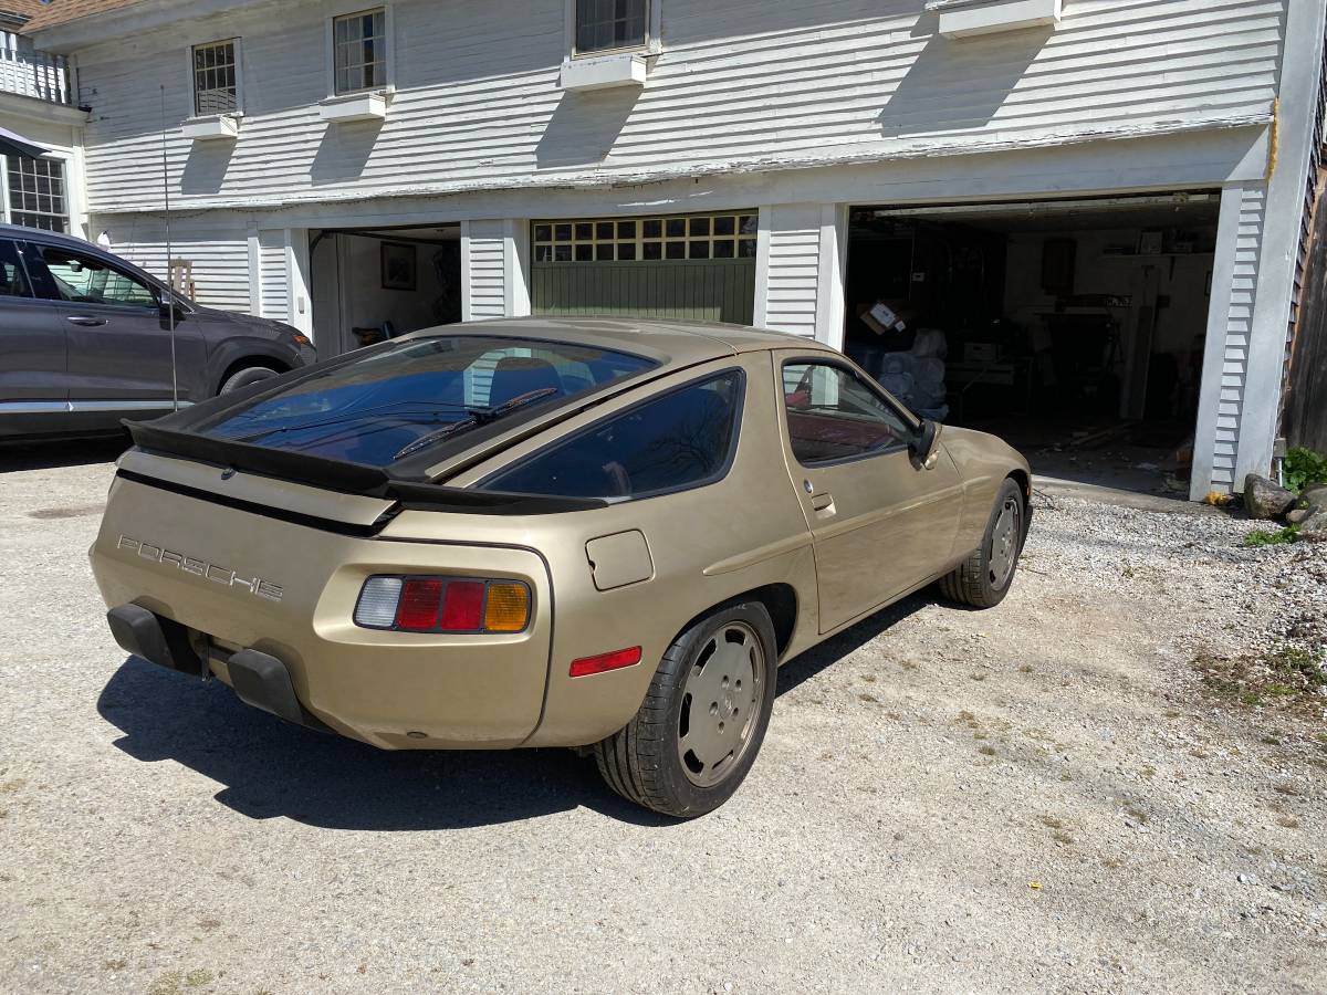
M 1258 293 L 1258 259 L 1262 251 L 1262 223 L 1267 191 L 1262 184 L 1239 192 L 1239 220 L 1230 304 L 1226 309 L 1225 344 L 1221 365 L 1221 399 L 1212 458 L 1212 484 L 1227 491 L 1235 486 L 1239 427 L 1243 415 L 1249 373 L 1249 338 Z M 1242 482 L 1241 482 L 1242 487 Z

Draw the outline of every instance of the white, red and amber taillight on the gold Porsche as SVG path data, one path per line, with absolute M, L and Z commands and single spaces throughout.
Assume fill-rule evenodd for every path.
M 529 624 L 529 586 L 474 577 L 369 577 L 354 624 L 407 633 L 519 633 Z

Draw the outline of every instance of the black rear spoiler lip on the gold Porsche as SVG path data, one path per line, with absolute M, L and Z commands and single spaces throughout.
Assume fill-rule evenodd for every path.
M 134 444 L 147 452 L 182 456 L 219 468 L 243 470 L 296 484 L 321 487 L 340 494 L 397 501 L 402 509 L 441 511 L 460 515 L 555 515 L 569 511 L 606 508 L 601 498 L 549 498 L 537 494 L 510 494 L 446 487 L 427 480 L 406 480 L 381 467 L 352 460 L 309 456 L 247 442 L 216 439 L 198 432 L 165 427 L 158 422 L 131 422 Z

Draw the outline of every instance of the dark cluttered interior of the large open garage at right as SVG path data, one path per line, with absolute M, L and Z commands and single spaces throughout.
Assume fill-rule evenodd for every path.
M 1220 194 L 856 207 L 844 349 L 1038 474 L 1188 496 Z

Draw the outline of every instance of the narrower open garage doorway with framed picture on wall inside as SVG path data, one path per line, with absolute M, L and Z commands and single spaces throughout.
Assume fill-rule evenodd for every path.
M 460 227 L 309 232 L 309 296 L 326 358 L 460 321 Z

